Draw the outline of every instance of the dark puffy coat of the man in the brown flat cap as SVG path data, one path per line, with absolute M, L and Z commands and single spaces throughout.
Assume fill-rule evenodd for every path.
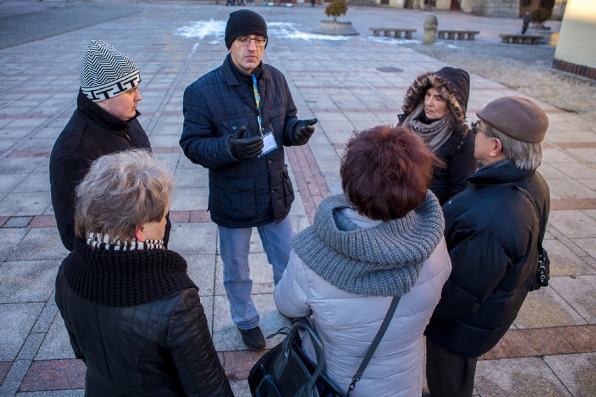
M 481 168 L 469 181 L 443 207 L 453 270 L 425 335 L 454 354 L 478 357 L 503 337 L 534 286 L 550 196 L 542 175 L 508 160 Z M 530 193 L 539 216 L 508 184 Z

